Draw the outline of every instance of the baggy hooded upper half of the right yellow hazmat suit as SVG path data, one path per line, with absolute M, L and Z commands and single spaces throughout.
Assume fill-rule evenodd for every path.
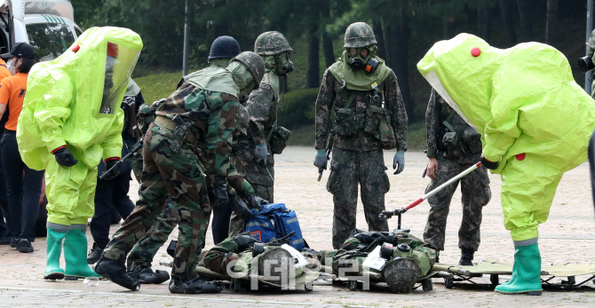
M 564 55 L 543 43 L 501 50 L 460 34 L 435 43 L 417 69 L 482 136 L 483 154 L 504 168 L 517 154 L 559 171 L 586 159 L 595 105 Z

